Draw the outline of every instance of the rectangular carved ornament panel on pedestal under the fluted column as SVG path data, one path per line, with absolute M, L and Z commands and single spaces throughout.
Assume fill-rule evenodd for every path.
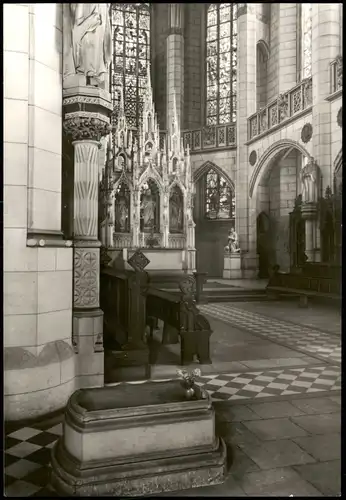
M 74 253 L 74 306 L 98 307 L 99 251 L 76 248 Z

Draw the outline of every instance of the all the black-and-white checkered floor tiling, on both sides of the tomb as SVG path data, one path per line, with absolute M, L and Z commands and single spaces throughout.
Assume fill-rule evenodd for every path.
M 213 400 L 245 403 L 253 399 L 263 401 L 266 397 L 297 397 L 341 389 L 341 343 L 336 335 L 243 311 L 231 304 L 208 304 L 200 309 L 235 327 L 286 344 L 322 361 L 316 360 L 316 366 L 303 368 L 203 375 L 197 383 L 209 392 Z M 61 416 L 54 423 L 6 431 L 4 472 L 7 497 L 56 496 L 48 487 L 49 463 L 51 448 L 62 434 L 62 419 Z

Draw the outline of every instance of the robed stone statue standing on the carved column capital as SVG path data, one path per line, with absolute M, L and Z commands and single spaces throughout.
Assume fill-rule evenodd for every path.
M 108 3 L 64 4 L 64 79 L 82 75 L 95 87 L 104 82 L 112 56 L 108 11 Z

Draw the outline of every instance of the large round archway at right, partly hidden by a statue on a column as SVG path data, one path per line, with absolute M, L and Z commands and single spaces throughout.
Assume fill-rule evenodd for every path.
M 291 267 L 291 248 L 295 236 L 290 227 L 297 196 L 301 192 L 299 172 L 309 153 L 300 144 L 283 140 L 273 144 L 260 158 L 249 185 L 252 204 L 250 231 L 256 242 L 256 253 L 270 269 L 278 264 L 282 271 Z M 259 220 L 266 219 L 266 233 Z M 297 235 L 298 238 L 298 235 Z M 261 277 L 265 277 L 263 264 Z

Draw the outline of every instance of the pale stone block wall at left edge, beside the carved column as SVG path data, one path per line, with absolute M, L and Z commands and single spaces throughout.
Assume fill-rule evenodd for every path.
M 56 239 L 61 14 L 59 4 L 4 6 L 4 364 L 10 420 L 61 408 L 75 387 L 72 249 Z M 41 246 L 46 239 L 52 246 Z

